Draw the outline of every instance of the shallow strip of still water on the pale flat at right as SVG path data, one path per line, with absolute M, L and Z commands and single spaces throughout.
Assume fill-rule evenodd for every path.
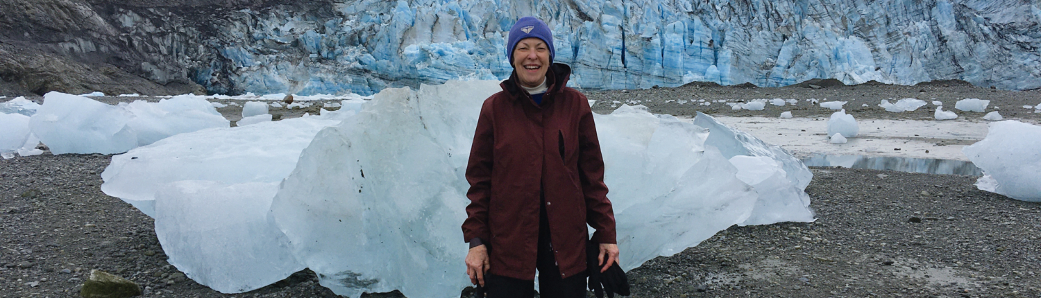
M 983 170 L 971 162 L 944 159 L 817 155 L 803 159 L 803 163 L 807 166 L 841 166 L 906 172 L 983 175 Z

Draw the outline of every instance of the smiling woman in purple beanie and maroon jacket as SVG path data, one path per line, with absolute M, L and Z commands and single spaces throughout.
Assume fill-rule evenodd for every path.
M 545 23 L 517 20 L 506 50 L 513 73 L 484 101 L 466 166 L 466 273 L 492 298 L 533 297 L 536 269 L 541 297 L 585 297 L 586 241 L 602 272 L 618 260 L 592 110 Z

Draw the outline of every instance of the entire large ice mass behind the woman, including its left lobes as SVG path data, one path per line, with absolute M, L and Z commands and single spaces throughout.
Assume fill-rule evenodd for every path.
M 498 84 L 388 88 L 339 113 L 178 134 L 113 156 L 102 190 L 155 218 L 171 264 L 223 293 L 310 268 L 339 295 L 455 297 L 463 172 Z M 627 270 L 731 225 L 814 220 L 812 173 L 779 146 L 704 114 L 623 105 L 594 120 Z

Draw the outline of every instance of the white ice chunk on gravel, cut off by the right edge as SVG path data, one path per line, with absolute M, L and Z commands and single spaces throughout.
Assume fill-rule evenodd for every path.
M 986 191 L 1041 201 L 1041 127 L 1016 120 L 990 124 L 987 137 L 962 148 L 983 169 L 976 186 Z

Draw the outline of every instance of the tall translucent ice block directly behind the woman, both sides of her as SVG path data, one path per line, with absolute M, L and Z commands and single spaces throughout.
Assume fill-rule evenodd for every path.
M 453 297 L 467 283 L 459 267 L 465 253 L 458 235 L 465 218 L 463 171 L 480 101 L 499 88 L 494 82 L 459 84 L 384 90 L 303 152 L 272 212 L 323 286 L 351 297 L 390 290 Z M 802 191 L 811 174 L 776 146 L 741 139 L 750 136 L 703 114 L 695 123 L 705 127 L 641 106 L 594 118 L 625 269 L 678 253 L 734 224 L 812 220 Z M 726 155 L 767 157 L 772 167 L 750 175 L 778 188 L 757 192 L 737 178 L 719 147 Z M 777 155 L 787 158 L 772 159 Z M 778 202 L 759 204 L 764 199 Z

